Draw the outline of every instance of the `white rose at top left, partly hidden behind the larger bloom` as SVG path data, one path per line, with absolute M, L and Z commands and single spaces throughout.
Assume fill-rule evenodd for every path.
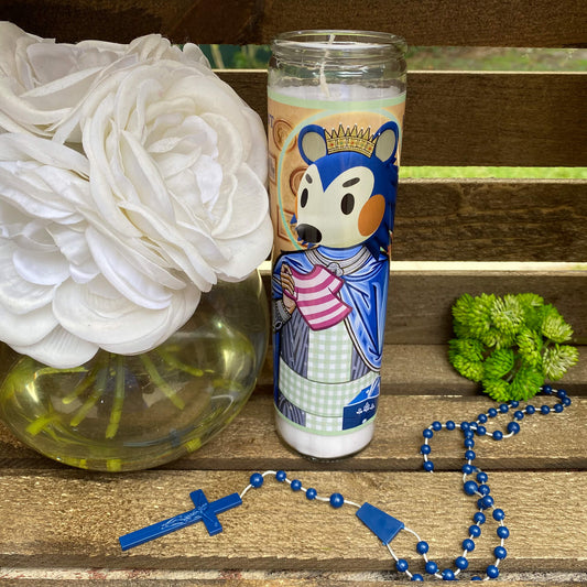
M 181 51 L 151 34 L 129 45 L 83 41 L 55 43 L 0 21 L 0 132 L 31 132 L 80 142 L 78 106 L 109 72 L 149 59 L 176 59 L 206 67 L 202 51 Z

